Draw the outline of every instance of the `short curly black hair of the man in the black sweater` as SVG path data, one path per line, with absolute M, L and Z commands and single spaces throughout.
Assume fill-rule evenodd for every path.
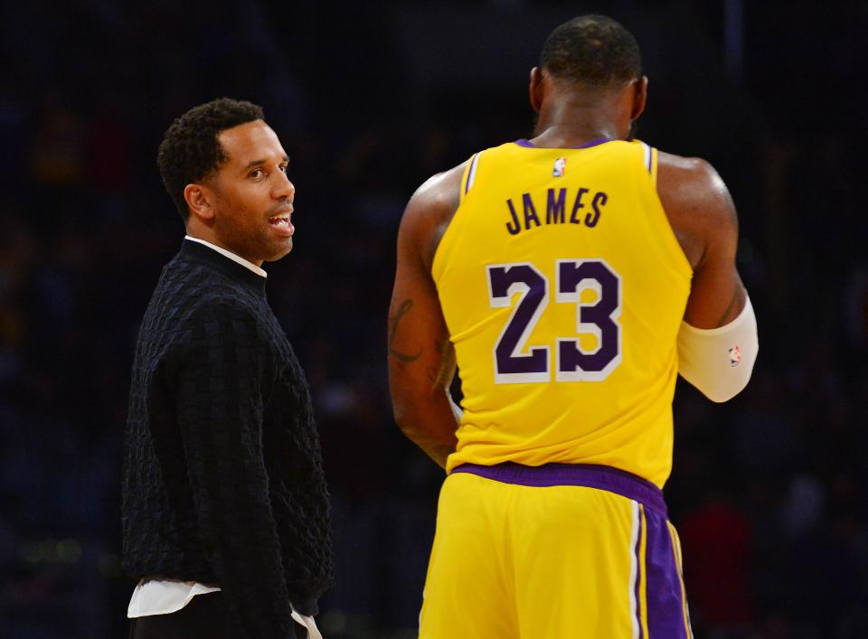
M 190 209 L 184 200 L 187 184 L 217 171 L 227 159 L 217 139 L 227 128 L 264 119 L 262 108 L 243 100 L 220 98 L 193 107 L 169 127 L 156 155 L 165 190 L 186 223 Z

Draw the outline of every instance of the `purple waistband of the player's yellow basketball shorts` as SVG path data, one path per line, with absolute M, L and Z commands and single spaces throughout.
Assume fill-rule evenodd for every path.
M 470 473 L 505 484 L 521 486 L 587 486 L 616 493 L 627 499 L 642 503 L 646 508 L 666 517 L 663 491 L 655 484 L 632 473 L 604 465 L 590 464 L 544 464 L 527 466 L 505 462 L 504 464 L 462 464 L 453 473 Z

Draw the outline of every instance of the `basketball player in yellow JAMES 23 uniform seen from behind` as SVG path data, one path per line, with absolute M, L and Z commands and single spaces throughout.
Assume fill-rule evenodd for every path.
M 395 418 L 448 473 L 424 639 L 692 636 L 661 492 L 675 378 L 729 399 L 758 341 L 726 186 L 628 141 L 646 96 L 620 24 L 564 23 L 531 71 L 535 137 L 434 176 L 404 213 Z

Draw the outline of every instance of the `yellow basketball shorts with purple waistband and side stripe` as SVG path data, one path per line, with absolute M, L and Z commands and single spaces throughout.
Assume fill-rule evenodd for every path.
M 420 639 L 692 639 L 656 485 L 599 465 L 458 466 L 440 491 Z

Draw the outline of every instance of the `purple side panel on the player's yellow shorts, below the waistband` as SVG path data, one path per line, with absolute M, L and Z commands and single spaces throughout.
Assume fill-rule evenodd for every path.
M 648 637 L 691 639 L 684 625 L 681 573 L 668 522 L 656 513 L 646 516 L 646 592 Z

